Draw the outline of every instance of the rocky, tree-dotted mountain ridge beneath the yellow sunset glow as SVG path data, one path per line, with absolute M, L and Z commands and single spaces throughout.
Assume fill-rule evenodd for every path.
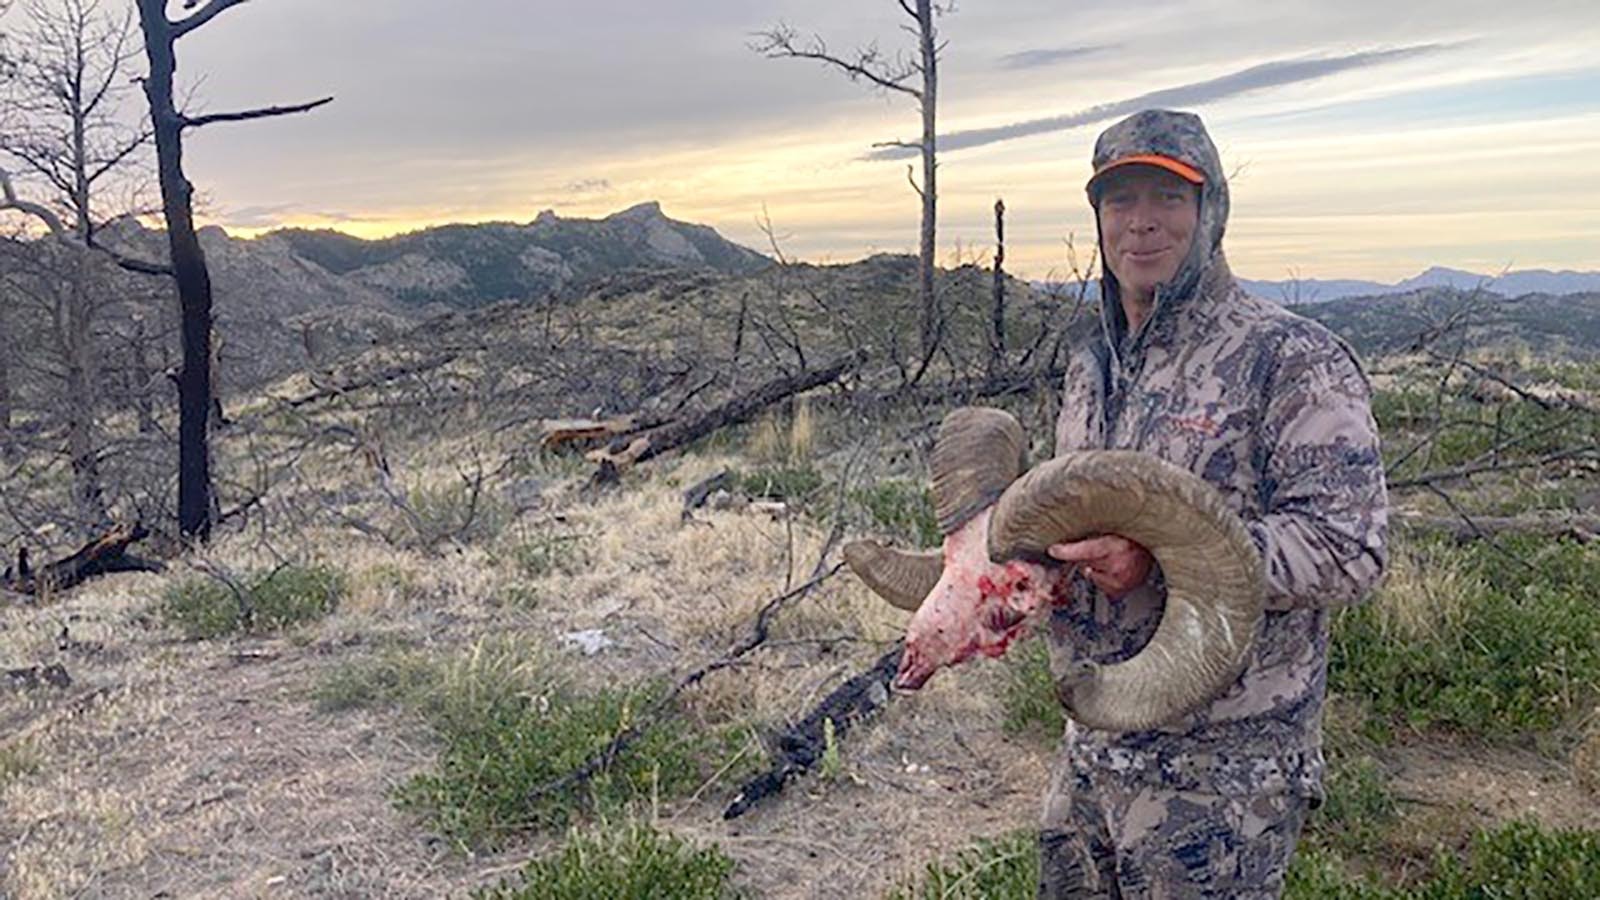
M 381 240 L 307 229 L 266 237 L 394 299 L 458 309 L 568 293 L 624 269 L 746 274 L 768 264 L 707 226 L 669 219 L 656 202 L 603 219 L 563 219 L 546 210 L 528 224 L 446 224 Z

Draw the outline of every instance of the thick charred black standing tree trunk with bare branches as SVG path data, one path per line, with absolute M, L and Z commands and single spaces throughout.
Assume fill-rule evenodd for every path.
M 178 528 L 189 538 L 205 541 L 211 535 L 211 458 L 206 440 L 211 415 L 211 274 L 206 271 L 205 253 L 195 235 L 194 186 L 184 176 L 184 131 L 216 122 L 307 112 L 331 102 L 333 98 L 242 112 L 206 115 L 179 112 L 173 101 L 178 40 L 245 0 L 205 0 L 203 5 L 200 0 L 184 0 L 184 10 L 200 8 L 178 21 L 166 18 L 168 0 L 138 2 L 144 53 L 150 64 L 144 94 L 150 102 L 162 210 L 166 218 L 166 240 L 182 319 L 184 362 L 178 383 Z

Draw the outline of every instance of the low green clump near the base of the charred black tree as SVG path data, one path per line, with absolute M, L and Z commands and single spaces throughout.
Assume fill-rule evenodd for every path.
M 344 573 L 326 565 L 280 565 L 238 578 L 237 591 L 186 578 L 166 589 L 160 613 L 189 639 L 274 634 L 331 613 L 346 591 Z

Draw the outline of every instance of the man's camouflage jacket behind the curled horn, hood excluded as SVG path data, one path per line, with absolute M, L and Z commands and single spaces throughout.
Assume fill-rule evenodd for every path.
M 1245 295 L 1221 248 L 1208 256 L 1187 296 L 1158 296 L 1136 335 L 1106 304 L 1069 362 L 1056 452 L 1142 450 L 1216 485 L 1267 562 L 1267 613 L 1245 673 L 1210 706 L 1150 732 L 1069 724 L 1064 753 L 1138 785 L 1320 796 L 1328 617 L 1386 564 L 1370 386 L 1344 341 Z M 1158 572 L 1118 601 L 1075 586 L 1051 615 L 1053 652 L 1118 661 L 1154 634 Z

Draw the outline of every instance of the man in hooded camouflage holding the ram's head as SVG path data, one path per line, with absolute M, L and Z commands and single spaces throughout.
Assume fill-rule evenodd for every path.
M 1200 119 L 1146 110 L 1094 144 L 1101 330 L 1069 362 L 1056 452 L 1131 448 L 1214 485 L 1267 573 L 1240 679 L 1150 732 L 1069 722 L 1045 801 L 1040 897 L 1278 897 L 1322 798 L 1330 612 L 1386 564 L 1370 386 L 1320 325 L 1245 295 L 1222 256 L 1227 181 Z M 1160 567 L 1106 535 L 1078 564 L 1051 652 L 1120 661 L 1155 631 Z

